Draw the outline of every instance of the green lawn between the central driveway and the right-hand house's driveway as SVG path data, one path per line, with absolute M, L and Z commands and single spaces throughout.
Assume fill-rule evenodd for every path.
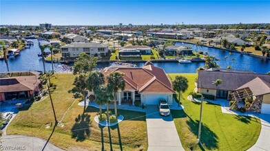
M 260 119 L 230 115 L 221 112 L 219 105 L 203 103 L 203 126 L 201 141 L 196 145 L 200 103 L 187 100 L 189 92 L 194 91 L 196 73 L 169 74 L 172 79 L 184 75 L 189 80 L 189 89 L 183 93 L 183 111 L 172 111 L 174 124 L 185 150 L 247 150 L 256 143 L 260 135 Z

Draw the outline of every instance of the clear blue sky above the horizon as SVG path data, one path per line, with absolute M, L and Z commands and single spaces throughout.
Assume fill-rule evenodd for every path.
M 0 0 L 0 25 L 270 23 L 270 1 Z

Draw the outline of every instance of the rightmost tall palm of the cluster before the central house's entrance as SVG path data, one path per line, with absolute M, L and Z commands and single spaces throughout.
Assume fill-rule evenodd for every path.
M 116 117 L 118 116 L 116 107 L 116 92 L 119 90 L 123 91 L 125 89 L 124 76 L 125 76 L 124 73 L 117 71 L 110 73 L 107 76 L 108 88 L 114 93 L 114 111 Z M 120 98 L 118 98 L 118 100 L 121 101 Z

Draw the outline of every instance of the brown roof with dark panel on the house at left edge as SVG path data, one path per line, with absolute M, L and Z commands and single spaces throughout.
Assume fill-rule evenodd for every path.
M 39 76 L 0 78 L 0 93 L 32 91 L 40 84 Z

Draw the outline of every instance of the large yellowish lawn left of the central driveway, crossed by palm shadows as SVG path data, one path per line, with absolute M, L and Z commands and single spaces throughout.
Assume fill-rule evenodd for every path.
M 52 82 L 57 84 L 57 88 L 52 93 L 52 100 L 56 117 L 60 120 L 75 100 L 72 93 L 67 92 L 73 87 L 74 75 L 71 73 L 55 75 L 56 78 L 52 78 Z M 50 143 L 65 150 L 110 150 L 111 138 L 114 150 L 120 150 L 120 146 L 123 146 L 123 150 L 147 150 L 145 113 L 119 110 L 118 113 L 125 119 L 118 126 L 112 126 L 109 132 L 107 127 L 98 126 L 94 121 L 97 108 L 90 106 L 85 108 L 83 118 L 84 108 L 78 103 L 76 100 L 67 111 L 62 123 L 56 127 Z M 52 128 L 45 127 L 50 126 L 53 121 L 52 107 L 47 97 L 45 100 L 23 107 L 8 126 L 8 135 L 29 135 L 48 139 Z

